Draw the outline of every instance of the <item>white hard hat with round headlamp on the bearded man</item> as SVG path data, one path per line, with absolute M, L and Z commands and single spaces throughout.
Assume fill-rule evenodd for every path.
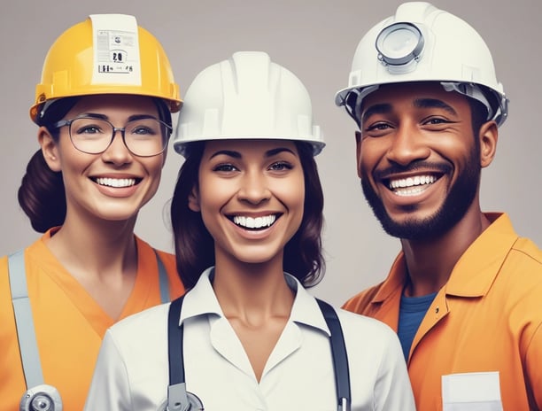
M 335 103 L 359 121 L 363 97 L 383 84 L 438 81 L 482 102 L 488 119 L 507 119 L 507 97 L 490 50 L 464 20 L 425 2 L 400 4 L 360 40 L 348 79 Z

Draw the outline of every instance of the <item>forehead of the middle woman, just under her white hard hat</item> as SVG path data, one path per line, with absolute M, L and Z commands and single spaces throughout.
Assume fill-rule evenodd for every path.
M 296 144 L 291 140 L 279 139 L 218 139 L 209 140 L 205 143 L 205 153 L 211 155 L 216 151 L 236 151 L 242 155 L 266 155 L 269 151 L 287 149 L 298 153 Z

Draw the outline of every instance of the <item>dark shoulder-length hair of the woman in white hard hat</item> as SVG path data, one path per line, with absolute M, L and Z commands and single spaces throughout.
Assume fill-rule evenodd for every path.
M 301 225 L 284 248 L 283 269 L 308 288 L 319 283 L 325 271 L 321 248 L 323 192 L 312 146 L 295 143 L 305 177 L 305 203 Z M 190 192 L 197 186 L 204 149 L 205 142 L 190 143 L 171 202 L 177 271 L 187 290 L 196 285 L 205 268 L 214 265 L 213 237 L 205 228 L 201 213 L 189 207 Z

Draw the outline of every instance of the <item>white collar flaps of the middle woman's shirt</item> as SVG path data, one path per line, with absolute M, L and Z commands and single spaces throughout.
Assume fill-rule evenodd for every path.
M 211 284 L 210 277 L 213 273 L 213 267 L 207 268 L 200 275 L 194 288 L 186 293 L 182 304 L 180 323 L 187 318 L 198 315 L 224 316 Z M 291 307 L 290 322 L 313 327 L 330 335 L 329 328 L 314 297 L 293 275 L 284 273 L 284 278 L 290 289 L 296 293 Z

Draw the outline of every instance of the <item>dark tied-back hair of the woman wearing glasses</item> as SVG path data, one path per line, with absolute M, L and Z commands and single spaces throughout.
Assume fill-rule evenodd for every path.
M 47 128 L 53 140 L 58 143 L 60 131 L 52 125 L 62 120 L 81 97 L 60 98 L 52 103 L 38 119 L 38 126 Z M 159 119 L 171 126 L 171 113 L 166 103 L 153 98 L 159 112 Z M 27 214 L 35 231 L 44 233 L 60 226 L 66 219 L 66 191 L 62 173 L 52 171 L 43 158 L 42 150 L 35 151 L 28 161 L 17 193 L 19 206 Z

